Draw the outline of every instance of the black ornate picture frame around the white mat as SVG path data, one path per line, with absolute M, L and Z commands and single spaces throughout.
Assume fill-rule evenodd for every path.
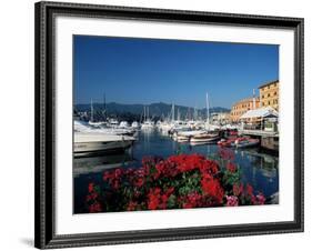
M 36 231 L 39 249 L 189 240 L 303 231 L 303 23 L 301 18 L 182 10 L 143 9 L 62 2 L 36 3 Z M 122 232 L 56 234 L 54 51 L 57 16 L 243 26 L 294 31 L 294 221 Z

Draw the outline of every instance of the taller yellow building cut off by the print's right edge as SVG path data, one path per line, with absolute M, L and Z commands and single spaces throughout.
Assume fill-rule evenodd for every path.
M 271 107 L 279 111 L 279 80 L 259 87 L 260 106 Z

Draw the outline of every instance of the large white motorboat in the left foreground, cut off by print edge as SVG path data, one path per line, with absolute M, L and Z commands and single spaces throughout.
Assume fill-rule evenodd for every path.
M 103 133 L 74 133 L 73 152 L 76 155 L 95 154 L 99 152 L 123 151 L 130 148 L 135 138 Z

